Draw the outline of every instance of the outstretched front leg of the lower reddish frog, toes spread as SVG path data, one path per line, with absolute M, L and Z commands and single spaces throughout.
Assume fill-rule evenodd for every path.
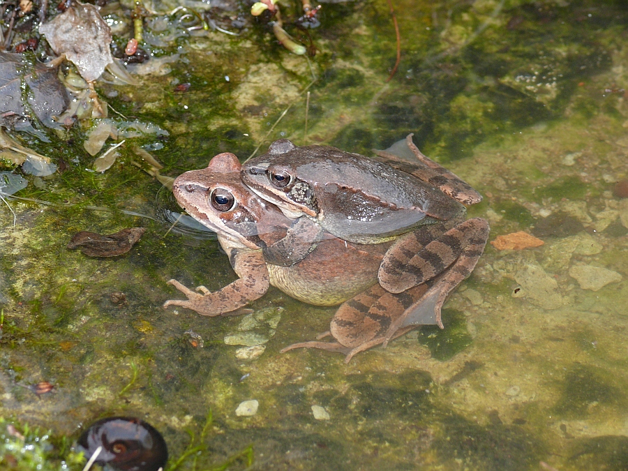
M 227 315 L 262 297 L 270 285 L 262 252 L 233 248 L 227 253 L 234 271 L 239 276 L 236 281 L 215 292 L 209 292 L 206 287 L 199 286 L 197 290 L 202 292 L 200 294 L 177 280 L 170 280 L 168 283 L 184 293 L 188 299 L 169 299 L 165 301 L 163 307 L 181 306 L 200 315 Z

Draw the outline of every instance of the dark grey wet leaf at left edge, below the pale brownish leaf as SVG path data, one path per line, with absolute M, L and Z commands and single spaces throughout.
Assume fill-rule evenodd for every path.
M 24 85 L 27 94 L 22 92 Z M 51 127 L 68 102 L 57 68 L 31 63 L 23 54 L 0 52 L 0 126 L 11 127 L 16 116 L 30 117 L 32 113 Z

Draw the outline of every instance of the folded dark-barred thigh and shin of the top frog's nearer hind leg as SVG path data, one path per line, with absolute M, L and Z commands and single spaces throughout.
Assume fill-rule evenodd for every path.
M 486 220 L 465 220 L 424 245 L 426 234 L 423 232 L 433 234 L 435 230 L 437 228 L 411 232 L 389 248 L 378 273 L 385 290 L 403 292 L 452 269 L 452 275 L 458 280 L 456 284 L 469 276 L 488 241 Z M 423 247 L 415 251 L 419 246 Z

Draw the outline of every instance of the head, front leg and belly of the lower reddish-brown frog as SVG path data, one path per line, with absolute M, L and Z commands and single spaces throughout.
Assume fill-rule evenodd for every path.
M 327 237 L 309 247 L 311 253 L 298 264 L 267 262 L 264 250 L 285 237 L 290 220 L 241 184 L 233 154 L 219 154 L 206 169 L 182 174 L 174 181 L 173 192 L 190 215 L 218 233 L 239 279 L 216 292 L 197 287 L 200 293 L 170 280 L 188 299 L 171 299 L 164 307 L 228 315 L 262 297 L 269 285 L 309 304 L 335 306 L 377 282 L 377 269 L 389 244 L 359 246 Z M 233 206 L 212 204 L 216 195 L 231 195 Z M 281 248 L 273 255 L 280 253 Z

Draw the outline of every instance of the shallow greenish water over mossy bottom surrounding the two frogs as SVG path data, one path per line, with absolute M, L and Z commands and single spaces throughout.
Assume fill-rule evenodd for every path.
M 444 330 L 417 329 L 348 365 L 319 350 L 280 354 L 329 329 L 334 308 L 271 289 L 252 307 L 281 307 L 281 320 L 260 327 L 269 338 L 260 357 L 237 359 L 224 339 L 241 317 L 161 307 L 181 297 L 170 278 L 209 290 L 234 280 L 216 241 L 115 211 L 175 209 L 131 154 L 96 174 L 85 170 L 93 158 L 80 134 L 61 146 L 33 140 L 68 169 L 29 177 L 17 193 L 54 205 L 10 201 L 15 227 L 0 212 L 1 416 L 70 438 L 100 417 L 137 416 L 175 459 L 192 431 L 207 448 L 181 469 L 207 469 L 249 445 L 251 469 L 628 468 L 628 199 L 613 193 L 628 179 L 624 3 L 393 3 L 402 60 L 390 82 L 394 28 L 377 0 L 325 3 L 309 61 L 263 27 L 238 38 L 209 31 L 164 47 L 181 60 L 142 87 L 99 91 L 118 112 L 168 131 L 140 144 L 163 144 L 152 153 L 170 176 L 223 151 L 244 159 L 279 137 L 372 155 L 414 133 L 484 195 L 469 214 L 490 221 L 491 241 L 525 231 L 544 245 L 488 245 L 447 301 Z M 175 94 L 183 82 L 189 91 Z M 138 225 L 147 232 L 127 255 L 66 249 L 80 230 Z M 40 381 L 53 392 L 22 387 Z M 257 413 L 238 417 L 252 399 Z

